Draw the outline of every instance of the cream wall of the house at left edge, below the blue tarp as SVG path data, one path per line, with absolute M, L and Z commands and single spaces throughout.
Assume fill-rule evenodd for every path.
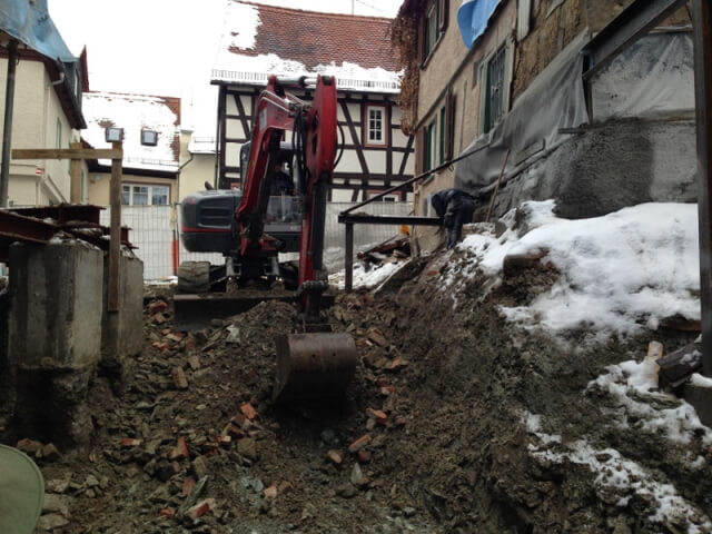
M 0 59 L 0 117 L 4 116 L 7 59 Z M 12 120 L 12 148 L 69 148 L 79 139 L 62 110 L 44 65 L 23 59 L 18 63 Z M 58 139 L 57 123 L 61 125 Z M 1 141 L 2 132 L 0 132 Z M 36 175 L 37 167 L 44 169 Z M 86 170 L 86 166 L 85 166 Z M 69 161 L 17 160 L 10 165 L 9 199 L 14 205 L 69 201 Z

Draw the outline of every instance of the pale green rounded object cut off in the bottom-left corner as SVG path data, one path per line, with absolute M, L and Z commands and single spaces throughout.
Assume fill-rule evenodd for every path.
M 44 479 L 17 448 L 0 445 L 0 532 L 32 534 L 42 513 Z

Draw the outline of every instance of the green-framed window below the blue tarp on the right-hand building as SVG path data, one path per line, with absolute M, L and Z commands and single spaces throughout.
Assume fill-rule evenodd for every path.
M 510 85 L 512 82 L 512 58 L 514 41 L 505 44 L 481 63 L 481 132 L 486 134 L 510 110 Z

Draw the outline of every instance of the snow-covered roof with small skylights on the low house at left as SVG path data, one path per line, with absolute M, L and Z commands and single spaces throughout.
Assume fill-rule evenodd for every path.
M 95 148 L 106 148 L 107 127 L 123 128 L 123 167 L 176 172 L 180 158 L 180 99 L 146 95 L 87 92 L 82 137 Z M 141 144 L 141 131 L 158 134 L 156 146 Z M 100 160 L 110 165 L 109 160 Z

